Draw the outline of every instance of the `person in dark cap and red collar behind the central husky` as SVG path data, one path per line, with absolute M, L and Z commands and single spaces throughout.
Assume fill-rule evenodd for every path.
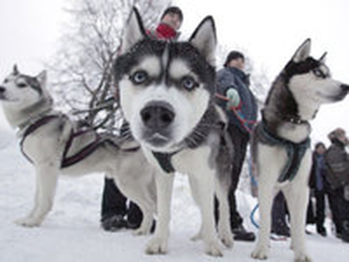
M 158 26 L 154 30 L 147 30 L 147 34 L 164 41 L 176 41 L 182 22 L 182 11 L 175 6 L 169 7 L 162 14 Z M 127 129 L 127 124 L 124 123 L 121 130 Z M 133 202 L 127 207 L 127 198 L 120 192 L 113 179 L 105 178 L 101 211 L 103 229 L 106 231 L 117 231 L 120 228 L 135 229 L 141 225 L 142 219 L 143 214 L 139 207 Z

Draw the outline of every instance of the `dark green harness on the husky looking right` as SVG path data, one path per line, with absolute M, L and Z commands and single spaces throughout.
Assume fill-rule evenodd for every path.
M 259 134 L 263 144 L 285 148 L 288 160 L 277 181 L 280 183 L 287 180 L 292 181 L 297 174 L 300 162 L 302 161 L 306 150 L 310 147 L 310 138 L 308 137 L 300 143 L 294 143 L 290 140 L 277 137 L 267 129 L 263 121 L 256 126 L 256 132 Z

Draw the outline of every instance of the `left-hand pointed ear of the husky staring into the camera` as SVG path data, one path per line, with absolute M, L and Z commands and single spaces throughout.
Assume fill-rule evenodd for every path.
M 124 53 L 143 37 L 146 32 L 143 27 L 143 22 L 137 8 L 133 7 L 130 16 L 128 17 L 124 38 L 122 39 L 122 52 Z

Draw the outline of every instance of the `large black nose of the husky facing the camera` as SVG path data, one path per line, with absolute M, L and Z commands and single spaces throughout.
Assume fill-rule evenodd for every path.
M 173 108 L 166 102 L 149 103 L 141 111 L 141 118 L 148 128 L 159 130 L 168 127 L 174 119 Z

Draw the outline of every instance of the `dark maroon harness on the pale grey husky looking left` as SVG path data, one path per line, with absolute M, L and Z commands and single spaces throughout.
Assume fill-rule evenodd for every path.
M 25 154 L 24 150 L 23 150 L 23 143 L 24 140 L 29 136 L 29 134 L 33 133 L 35 130 L 37 130 L 38 128 L 40 128 L 41 126 L 49 123 L 50 121 L 60 118 L 60 117 L 65 117 L 65 115 L 60 114 L 60 115 L 47 115 L 47 116 L 43 116 L 42 118 L 40 118 L 39 120 L 35 121 L 33 124 L 31 124 L 24 132 L 21 143 L 20 143 L 20 147 L 21 147 L 21 151 L 23 153 L 23 155 L 32 163 L 33 161 L 29 158 L 29 156 L 27 154 Z M 69 149 L 73 144 L 74 139 L 87 134 L 88 132 L 95 132 L 94 129 L 90 128 L 90 129 L 86 129 L 86 130 L 80 130 L 77 132 L 74 132 L 74 130 L 72 129 L 70 131 L 70 136 L 68 141 L 66 142 L 63 154 L 62 154 L 62 159 L 61 159 L 61 168 L 65 168 L 65 167 L 69 167 L 74 165 L 75 163 L 87 158 L 90 154 L 92 154 L 102 143 L 109 143 L 110 145 L 120 148 L 119 145 L 117 145 L 112 139 L 109 138 L 102 138 L 99 134 L 96 133 L 96 138 L 91 141 L 90 143 L 88 143 L 86 146 L 84 146 L 83 148 L 81 148 L 77 153 L 71 155 L 68 157 L 68 153 L 69 153 Z M 121 149 L 121 148 L 120 148 Z M 135 146 L 135 147 L 131 147 L 131 148 L 125 148 L 125 149 L 121 149 L 124 152 L 136 152 L 140 149 L 140 146 Z

